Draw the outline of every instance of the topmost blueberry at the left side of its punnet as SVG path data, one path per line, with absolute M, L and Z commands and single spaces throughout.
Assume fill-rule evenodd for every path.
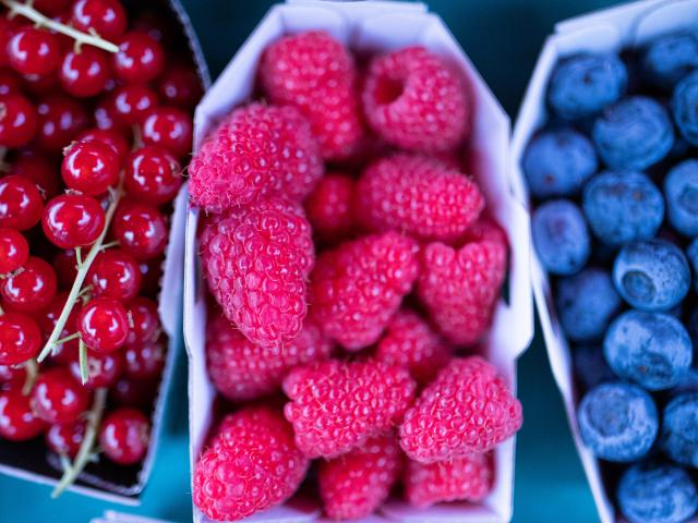
M 553 71 L 547 102 L 559 118 L 576 120 L 616 101 L 627 83 L 627 70 L 616 54 L 576 54 Z

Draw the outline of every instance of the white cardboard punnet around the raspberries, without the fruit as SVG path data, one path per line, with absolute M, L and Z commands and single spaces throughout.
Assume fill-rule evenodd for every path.
M 506 293 L 495 313 L 494 327 L 484 341 L 490 360 L 512 387 L 516 385 L 516 358 L 532 337 L 530 291 L 530 242 L 528 214 L 521 202 L 520 183 L 509 169 L 509 120 L 468 60 L 444 22 L 426 5 L 401 2 L 289 1 L 274 5 L 238 50 L 220 77 L 203 98 L 194 118 L 194 144 L 233 107 L 253 95 L 255 71 L 263 49 L 280 36 L 308 29 L 324 29 L 358 51 L 380 52 L 408 45 L 422 45 L 448 57 L 469 78 L 474 98 L 470 170 L 486 194 L 490 208 L 506 229 L 512 248 Z M 215 391 L 206 375 L 206 291 L 197 260 L 198 211 L 186 217 L 186 260 L 184 282 L 184 337 L 189 352 L 191 459 L 195 463 L 212 423 Z M 514 439 L 496 450 L 496 479 L 492 494 L 479 506 L 436 506 L 416 511 L 390 502 L 371 521 L 459 521 L 507 522 L 512 518 L 514 487 Z M 254 521 L 322 521 L 314 500 L 292 502 L 257 514 Z M 206 521 L 200 512 L 194 521 Z

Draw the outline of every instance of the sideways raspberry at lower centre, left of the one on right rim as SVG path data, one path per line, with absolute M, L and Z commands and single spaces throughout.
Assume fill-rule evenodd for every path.
M 407 370 L 385 363 L 318 362 L 284 380 L 286 418 L 306 457 L 335 458 L 400 423 L 414 388 Z

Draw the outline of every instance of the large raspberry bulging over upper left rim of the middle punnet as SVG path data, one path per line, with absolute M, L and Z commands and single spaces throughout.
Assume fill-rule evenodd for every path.
M 212 212 L 281 193 L 304 198 L 324 166 L 308 121 L 292 107 L 237 109 L 189 166 L 192 202 Z

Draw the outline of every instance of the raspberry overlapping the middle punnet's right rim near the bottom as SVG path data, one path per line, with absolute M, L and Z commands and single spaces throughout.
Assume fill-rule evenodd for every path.
M 453 460 L 492 450 L 522 422 L 521 404 L 492 364 L 455 357 L 405 414 L 400 447 L 423 463 Z

